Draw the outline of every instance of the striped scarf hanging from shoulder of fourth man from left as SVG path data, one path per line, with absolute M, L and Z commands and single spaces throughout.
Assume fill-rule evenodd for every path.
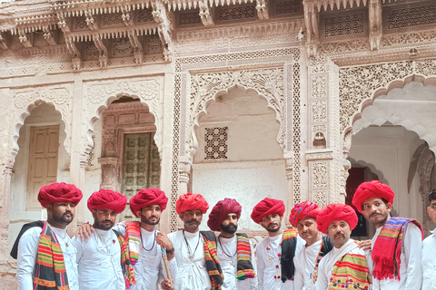
M 201 231 L 203 235 L 206 270 L 212 282 L 211 290 L 220 290 L 223 285 L 223 271 L 216 256 L 216 237 L 211 231 Z

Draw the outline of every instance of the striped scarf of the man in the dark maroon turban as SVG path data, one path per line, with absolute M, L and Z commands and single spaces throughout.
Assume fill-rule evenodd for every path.
M 250 239 L 245 234 L 236 234 L 237 245 L 237 261 L 236 279 L 245 280 L 254 278 L 256 274 L 252 264 L 252 248 L 250 247 Z

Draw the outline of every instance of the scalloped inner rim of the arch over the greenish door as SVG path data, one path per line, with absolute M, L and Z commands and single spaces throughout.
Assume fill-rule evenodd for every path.
M 86 131 L 87 144 L 86 144 L 86 148 L 85 148 L 84 152 L 86 154 L 88 154 L 92 150 L 92 148 L 94 147 L 93 133 L 94 133 L 95 122 L 101 119 L 103 111 L 106 110 L 107 108 L 109 108 L 109 106 L 111 105 L 112 102 L 114 102 L 115 100 L 119 100 L 122 97 L 130 97 L 132 99 L 139 100 L 139 101 L 141 101 L 141 103 L 143 105 L 148 107 L 148 109 L 150 110 L 150 113 L 154 116 L 154 126 L 156 126 L 156 133 L 154 134 L 154 142 L 156 143 L 156 146 L 159 150 L 159 154 L 162 154 L 162 144 L 160 143 L 160 140 L 161 140 L 160 126 L 159 126 L 159 122 L 158 122 L 158 118 L 157 118 L 157 112 L 153 110 L 153 106 L 151 103 L 153 101 L 150 101 L 150 103 L 147 103 L 146 101 L 144 102 L 144 100 L 141 100 L 141 98 L 139 96 L 137 96 L 135 94 L 125 93 L 125 92 L 120 92 L 120 93 L 117 93 L 115 96 L 107 97 L 104 100 L 104 104 L 97 108 L 97 110 L 94 113 L 94 116 L 91 117 L 91 119 L 88 122 L 88 128 Z

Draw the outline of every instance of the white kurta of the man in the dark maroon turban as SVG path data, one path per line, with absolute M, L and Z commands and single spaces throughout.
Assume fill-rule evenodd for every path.
M 219 242 L 216 243 L 216 253 L 218 261 L 220 261 L 221 268 L 223 269 L 223 290 L 255 290 L 257 289 L 257 277 L 253 279 L 245 279 L 243 281 L 236 279 L 237 260 L 236 253 L 237 237 L 234 235 L 230 238 L 219 237 Z M 254 273 L 256 271 L 256 259 L 254 256 L 253 244 L 250 241 L 250 248 L 252 250 L 252 265 Z

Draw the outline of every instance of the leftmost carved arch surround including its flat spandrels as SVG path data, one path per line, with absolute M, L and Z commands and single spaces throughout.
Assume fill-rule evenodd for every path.
M 11 158 L 15 160 L 15 156 L 18 153 L 18 138 L 20 137 L 20 129 L 25 124 L 25 118 L 27 118 L 31 111 L 41 105 L 43 102 L 54 106 L 54 110 L 61 113 L 62 121 L 64 121 L 64 131 L 66 138 L 64 140 L 64 148 L 66 152 L 70 152 L 71 142 L 71 113 L 70 107 L 72 102 L 72 85 L 54 85 L 35 88 L 26 88 L 24 90 L 13 91 L 12 100 L 12 120 L 16 120 L 14 127 L 12 128 L 12 150 Z

